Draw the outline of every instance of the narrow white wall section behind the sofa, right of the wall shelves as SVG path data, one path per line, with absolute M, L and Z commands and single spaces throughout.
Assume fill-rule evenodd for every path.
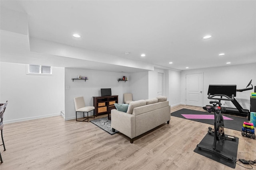
M 133 100 L 148 99 L 148 71 L 130 73 L 129 84 Z

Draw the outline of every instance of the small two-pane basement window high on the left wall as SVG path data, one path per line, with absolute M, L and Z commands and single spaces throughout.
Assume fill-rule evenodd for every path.
M 52 67 L 28 64 L 27 65 L 27 74 L 52 75 Z

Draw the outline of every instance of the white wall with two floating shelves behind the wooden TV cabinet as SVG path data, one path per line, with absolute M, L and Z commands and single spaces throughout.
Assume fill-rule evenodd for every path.
M 86 82 L 74 80 L 73 82 L 71 78 L 78 75 L 88 77 L 89 80 Z M 126 76 L 128 81 L 118 82 L 118 78 L 123 76 Z M 112 95 L 118 95 L 118 103 L 123 103 L 124 93 L 130 92 L 129 84 L 130 76 L 127 73 L 65 68 L 65 120 L 76 118 L 75 97 L 84 96 L 86 106 L 93 106 L 93 96 L 101 96 L 101 88 L 111 88 Z M 80 115 L 82 113 L 78 113 L 78 117 Z

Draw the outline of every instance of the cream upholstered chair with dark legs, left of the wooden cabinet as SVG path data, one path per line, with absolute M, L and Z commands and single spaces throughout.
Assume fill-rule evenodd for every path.
M 85 106 L 83 96 L 74 98 L 74 102 L 75 102 L 75 109 L 76 109 L 76 121 L 86 121 L 87 120 L 86 122 L 88 122 L 89 118 L 95 118 L 95 115 L 94 115 L 95 107 L 94 106 Z M 92 110 L 93 110 L 93 117 L 89 117 L 88 114 Z M 84 112 L 87 112 L 87 117 L 84 120 L 77 120 L 77 112 L 83 112 L 83 115 L 84 115 Z

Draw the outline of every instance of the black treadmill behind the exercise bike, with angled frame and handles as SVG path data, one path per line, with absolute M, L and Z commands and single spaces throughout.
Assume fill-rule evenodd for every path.
M 212 92 L 214 94 L 224 94 L 226 96 L 229 96 L 231 98 L 232 94 L 234 94 L 234 97 L 236 97 L 236 92 L 244 92 L 247 90 L 252 90 L 252 80 L 249 82 L 249 84 L 244 89 L 236 89 L 236 85 L 209 85 L 208 94 L 209 92 Z M 250 86 L 251 87 L 248 87 Z M 211 95 L 214 95 L 212 94 Z M 243 107 L 237 102 L 237 100 L 234 98 L 234 100 L 231 101 L 236 108 L 232 107 L 222 107 L 222 113 L 226 114 L 233 114 L 238 116 L 246 117 L 249 114 L 248 109 L 243 109 Z M 203 109 L 206 110 L 206 106 L 203 107 Z

